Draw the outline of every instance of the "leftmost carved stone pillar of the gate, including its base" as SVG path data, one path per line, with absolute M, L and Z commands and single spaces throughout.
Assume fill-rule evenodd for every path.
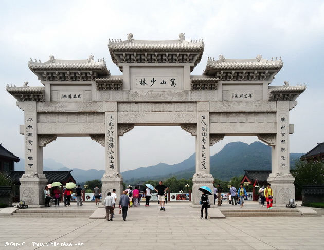
M 41 207 L 45 205 L 47 179 L 43 174 L 43 147 L 37 134 L 37 103 L 23 102 L 18 105 L 25 111 L 25 174 L 19 179 L 20 199 L 30 207 Z

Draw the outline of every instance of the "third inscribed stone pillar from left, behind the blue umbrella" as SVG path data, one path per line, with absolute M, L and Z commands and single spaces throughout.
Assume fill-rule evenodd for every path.
M 192 178 L 192 204 L 199 205 L 201 186 L 213 192 L 214 178 L 210 174 L 209 157 L 209 102 L 197 102 L 196 172 Z

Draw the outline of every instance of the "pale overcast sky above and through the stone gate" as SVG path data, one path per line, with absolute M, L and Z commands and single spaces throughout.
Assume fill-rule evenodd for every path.
M 28 61 L 104 57 L 112 75 L 121 75 L 107 43 L 139 40 L 204 39 L 202 60 L 191 75 L 202 75 L 207 57 L 265 59 L 282 57 L 283 68 L 271 86 L 306 84 L 290 111 L 295 133 L 291 152 L 306 153 L 324 142 L 323 132 L 323 1 L 0 1 L 0 143 L 24 158 L 19 125 L 23 111 L 6 86 L 43 86 Z M 251 143 L 257 137 L 227 137 L 210 148 L 211 155 L 232 141 Z M 182 162 L 195 151 L 195 138 L 180 127 L 135 127 L 120 137 L 120 171 L 164 162 Z M 68 168 L 105 169 L 104 148 L 88 137 L 59 137 L 44 148 Z

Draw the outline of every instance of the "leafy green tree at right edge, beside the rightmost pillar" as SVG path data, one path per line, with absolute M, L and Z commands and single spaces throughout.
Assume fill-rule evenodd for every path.
M 301 196 L 303 185 L 323 185 L 324 184 L 324 163 L 317 160 L 295 162 L 295 169 L 292 170 L 295 177 L 296 197 Z

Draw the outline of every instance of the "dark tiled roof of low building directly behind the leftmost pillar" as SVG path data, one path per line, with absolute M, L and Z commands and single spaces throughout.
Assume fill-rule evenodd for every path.
M 59 181 L 64 184 L 67 180 L 71 179 L 75 182 L 73 176 L 71 175 L 71 171 L 44 171 L 44 174 L 47 178 L 47 184 L 51 184 L 53 182 Z M 20 183 L 19 179 L 24 174 L 24 171 L 14 171 L 8 174 L 8 177 L 13 181 L 13 183 Z

